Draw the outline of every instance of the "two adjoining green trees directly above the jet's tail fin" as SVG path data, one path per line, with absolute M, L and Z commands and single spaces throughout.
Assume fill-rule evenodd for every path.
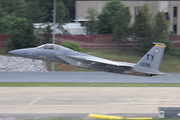
M 136 16 L 133 29 L 136 39 L 139 40 L 140 52 L 146 53 L 153 45 L 152 42 L 165 43 L 167 48 L 165 52 L 172 49 L 168 36 L 169 21 L 166 19 L 164 12 L 158 12 L 154 19 L 149 12 L 149 7 L 144 4 Z

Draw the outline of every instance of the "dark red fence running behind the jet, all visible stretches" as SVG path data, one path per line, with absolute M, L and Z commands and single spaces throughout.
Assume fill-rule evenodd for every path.
M 41 38 L 43 38 L 42 35 Z M 5 42 L 8 40 L 7 35 L 0 35 L 0 48 L 5 47 Z M 113 44 L 111 35 L 55 35 L 55 43 L 60 44 L 63 41 L 76 41 L 83 48 L 114 48 L 114 47 L 137 47 L 138 41 L 129 40 L 119 45 Z M 170 36 L 171 43 L 174 47 L 180 47 L 180 35 Z

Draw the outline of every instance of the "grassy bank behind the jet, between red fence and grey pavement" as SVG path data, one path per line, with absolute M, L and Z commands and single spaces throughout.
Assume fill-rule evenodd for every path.
M 133 48 L 128 49 L 126 52 L 121 51 L 118 55 L 117 49 L 101 49 L 101 48 L 88 48 L 83 51 L 86 54 L 94 55 L 97 57 L 106 58 L 114 61 L 137 63 L 144 54 L 139 54 Z M 47 62 L 48 70 L 51 70 L 51 63 Z M 69 65 L 55 63 L 55 71 L 89 71 L 82 68 L 77 68 Z M 161 64 L 162 72 L 180 72 L 180 57 L 165 54 Z

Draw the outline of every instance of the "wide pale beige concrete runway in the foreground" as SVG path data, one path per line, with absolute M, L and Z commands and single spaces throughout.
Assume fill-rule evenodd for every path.
M 180 107 L 179 92 L 178 87 L 1 87 L 0 118 L 12 113 L 153 116 L 158 107 Z

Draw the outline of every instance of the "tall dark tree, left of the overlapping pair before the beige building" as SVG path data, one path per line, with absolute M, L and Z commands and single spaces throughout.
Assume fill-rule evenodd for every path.
M 102 10 L 102 13 L 99 14 L 97 22 L 97 30 L 99 34 L 111 34 L 113 31 L 112 20 L 116 16 L 116 12 L 125 7 L 119 0 L 112 0 L 107 2 L 105 7 Z

